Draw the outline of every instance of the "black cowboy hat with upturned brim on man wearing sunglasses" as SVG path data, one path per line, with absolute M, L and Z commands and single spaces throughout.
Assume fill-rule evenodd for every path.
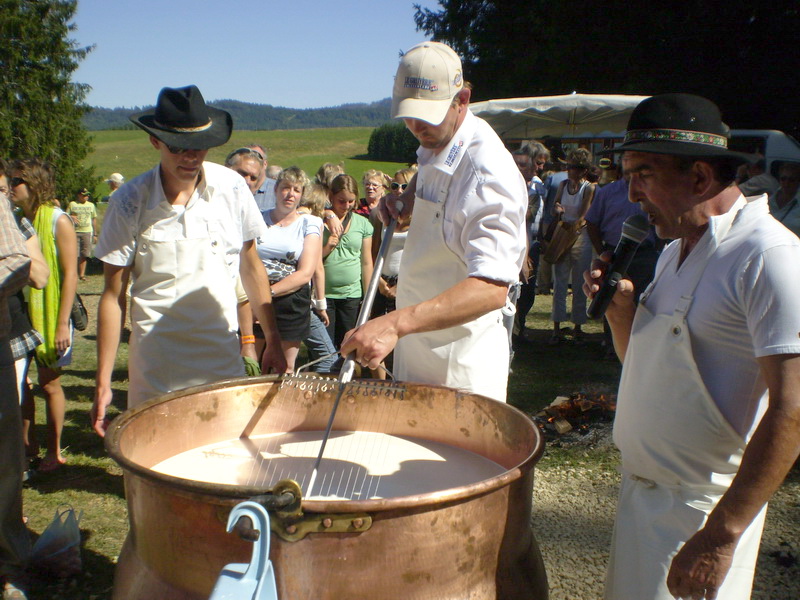
M 168 146 L 183 150 L 207 150 L 231 137 L 230 113 L 208 106 L 197 86 L 163 88 L 155 108 L 131 115 L 137 127 Z

